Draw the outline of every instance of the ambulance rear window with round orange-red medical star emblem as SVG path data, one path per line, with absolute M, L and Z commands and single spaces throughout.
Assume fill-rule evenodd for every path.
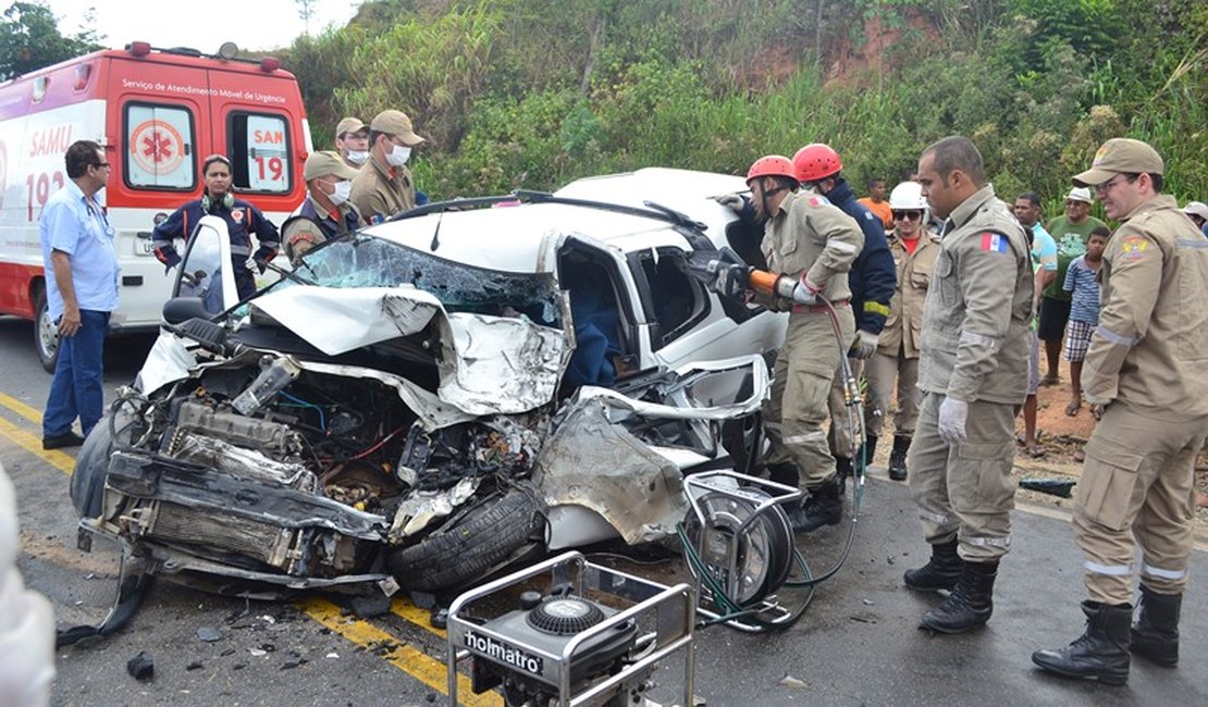
M 137 189 L 188 192 L 197 185 L 193 116 L 181 106 L 126 104 L 122 175 Z

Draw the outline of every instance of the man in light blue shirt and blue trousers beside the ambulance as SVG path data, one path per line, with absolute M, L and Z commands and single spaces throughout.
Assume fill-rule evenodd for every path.
M 114 229 L 95 200 L 109 181 L 100 145 L 80 140 L 68 147 L 68 183 L 46 203 L 37 220 L 46 268 L 46 304 L 58 322 L 59 360 L 42 414 L 42 449 L 77 446 L 71 431 L 80 417 L 85 437 L 105 407 L 101 352 L 109 315 L 117 309 Z

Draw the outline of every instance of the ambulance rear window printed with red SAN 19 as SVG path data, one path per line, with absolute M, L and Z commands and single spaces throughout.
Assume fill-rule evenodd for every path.
M 284 116 L 231 113 L 227 145 L 234 168 L 234 188 L 260 194 L 286 194 L 290 174 L 290 132 Z

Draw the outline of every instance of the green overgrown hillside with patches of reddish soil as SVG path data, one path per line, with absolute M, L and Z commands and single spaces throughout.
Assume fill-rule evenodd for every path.
M 377 0 L 286 66 L 316 146 L 343 115 L 411 115 L 436 198 L 741 174 L 813 141 L 853 183 L 894 183 L 958 133 L 1001 195 L 1056 205 L 1117 135 L 1162 153 L 1180 200 L 1208 197 L 1206 36 L 1196 0 Z

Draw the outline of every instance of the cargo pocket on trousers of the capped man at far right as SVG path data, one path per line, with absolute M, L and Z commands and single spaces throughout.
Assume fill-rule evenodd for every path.
M 1074 508 L 1085 518 L 1122 531 L 1145 456 L 1103 436 L 1092 436 L 1085 451 Z

